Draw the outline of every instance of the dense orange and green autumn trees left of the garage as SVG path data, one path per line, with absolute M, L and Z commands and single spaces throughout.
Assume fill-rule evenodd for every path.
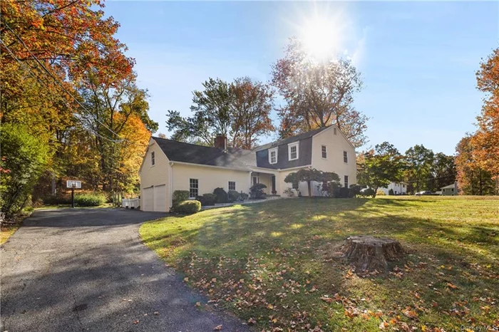
M 0 6 L 2 211 L 18 212 L 35 187 L 50 194 L 66 178 L 92 190 L 136 190 L 158 123 L 103 1 Z

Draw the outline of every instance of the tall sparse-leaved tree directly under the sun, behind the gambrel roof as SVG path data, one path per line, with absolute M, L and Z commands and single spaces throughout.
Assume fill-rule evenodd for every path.
M 362 80 L 350 61 L 317 61 L 292 38 L 284 58 L 272 66 L 272 83 L 286 103 L 279 110 L 283 138 L 334 124 L 356 147 L 366 142 L 368 119 L 353 105 Z

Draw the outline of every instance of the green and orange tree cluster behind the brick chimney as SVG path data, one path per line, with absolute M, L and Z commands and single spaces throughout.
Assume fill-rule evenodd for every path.
M 194 91 L 192 116 L 168 110 L 172 139 L 212 146 L 217 134 L 225 135 L 235 147 L 250 149 L 258 138 L 274 127 L 269 118 L 273 93 L 269 85 L 237 78 L 233 83 L 210 78 L 202 91 Z

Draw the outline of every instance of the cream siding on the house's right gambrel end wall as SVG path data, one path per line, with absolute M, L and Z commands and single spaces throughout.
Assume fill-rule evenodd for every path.
M 322 158 L 322 145 L 326 145 L 327 159 Z M 344 162 L 344 151 L 348 154 L 348 163 Z M 335 172 L 339 175 L 342 186 L 345 175 L 349 177 L 349 186 L 357 183 L 355 149 L 339 130 L 336 130 L 336 135 L 334 135 L 334 126 L 313 137 L 312 168 L 323 172 Z

